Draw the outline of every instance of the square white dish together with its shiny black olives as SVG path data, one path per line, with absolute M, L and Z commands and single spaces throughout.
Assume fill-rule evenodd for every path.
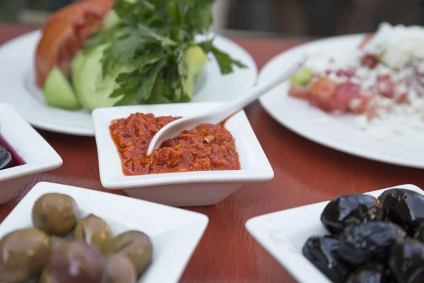
M 401 185 L 250 219 L 298 282 L 424 282 L 424 192 Z

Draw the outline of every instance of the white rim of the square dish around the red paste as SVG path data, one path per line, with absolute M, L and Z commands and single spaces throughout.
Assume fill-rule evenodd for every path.
M 180 103 L 174 105 L 176 108 L 192 108 L 193 110 L 197 109 L 199 111 L 202 108 L 207 109 L 213 105 L 219 104 L 220 103 Z M 124 173 L 122 173 L 122 167 L 120 166 L 119 154 L 110 137 L 108 127 L 110 122 L 119 117 L 128 117 L 132 112 L 154 113 L 158 111 L 155 109 L 171 109 L 171 107 L 172 105 L 139 105 L 123 106 L 119 108 L 100 108 L 93 111 L 95 138 L 98 146 L 100 180 L 103 187 L 107 189 L 125 189 L 184 183 L 245 183 L 271 180 L 273 178 L 271 164 L 268 158 L 266 158 L 264 150 L 261 148 L 244 111 L 238 112 L 227 121 L 227 123 L 237 122 L 237 127 L 242 127 L 244 129 L 242 137 L 234 135 L 237 152 L 240 156 L 241 170 L 196 171 L 134 176 L 124 175 Z M 151 109 L 151 111 L 146 109 Z M 176 115 L 171 111 L 167 113 L 167 115 Z M 254 161 L 252 157 L 247 155 L 254 155 Z M 109 158 L 113 158 L 113 162 L 110 161 Z M 119 162 L 119 167 L 116 165 L 117 162 Z M 253 163 L 254 165 L 252 165 Z M 113 175 L 115 175 L 115 177 Z

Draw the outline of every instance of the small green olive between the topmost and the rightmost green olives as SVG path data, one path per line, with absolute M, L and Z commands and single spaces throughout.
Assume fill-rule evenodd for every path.
M 112 238 L 112 233 L 103 219 L 90 214 L 76 224 L 73 230 L 73 238 L 86 241 L 102 252 L 105 250 L 110 238 Z

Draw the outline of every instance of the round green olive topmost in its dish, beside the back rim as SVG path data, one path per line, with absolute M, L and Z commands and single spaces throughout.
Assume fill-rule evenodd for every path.
M 50 235 L 66 236 L 78 220 L 78 206 L 69 195 L 49 193 L 42 195 L 33 207 L 33 225 Z

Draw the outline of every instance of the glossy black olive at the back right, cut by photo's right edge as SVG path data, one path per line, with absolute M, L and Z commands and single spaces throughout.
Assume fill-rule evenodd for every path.
M 404 228 L 411 236 L 424 222 L 424 196 L 412 190 L 391 189 L 379 196 L 387 218 Z

